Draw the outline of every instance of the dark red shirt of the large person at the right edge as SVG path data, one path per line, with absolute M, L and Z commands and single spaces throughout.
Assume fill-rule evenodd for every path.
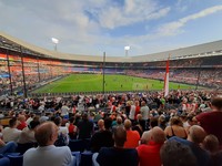
M 222 147 L 222 112 L 212 111 L 201 113 L 196 116 L 196 120 L 208 134 L 213 134 L 218 137 L 220 146 Z

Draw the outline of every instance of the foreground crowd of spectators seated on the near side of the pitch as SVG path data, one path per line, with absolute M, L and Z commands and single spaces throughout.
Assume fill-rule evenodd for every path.
M 69 142 L 90 139 L 94 165 L 218 166 L 222 164 L 222 97 L 216 92 L 162 92 L 4 98 L 0 153 L 37 142 L 24 165 L 70 165 Z M 49 153 L 50 152 L 50 153 Z M 63 153 L 62 153 L 63 152 Z M 42 156 L 42 154 L 46 154 Z

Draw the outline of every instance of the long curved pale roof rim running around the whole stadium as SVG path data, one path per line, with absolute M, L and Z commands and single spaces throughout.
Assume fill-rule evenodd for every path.
M 80 55 L 80 54 L 69 54 L 61 53 L 57 51 L 50 51 L 42 49 L 24 41 L 21 41 L 17 38 L 13 38 L 9 34 L 0 32 L 0 48 L 22 51 L 30 53 L 37 56 L 52 58 L 59 60 L 70 60 L 70 61 L 89 61 L 89 62 L 102 62 L 102 56 L 97 55 Z M 107 56 L 105 62 L 153 62 L 153 61 L 163 61 L 167 60 L 170 55 L 170 59 L 191 59 L 198 56 L 210 56 L 210 55 L 222 55 L 222 40 L 214 41 L 210 43 L 180 48 L 176 50 L 170 50 L 159 53 L 138 55 L 138 56 Z

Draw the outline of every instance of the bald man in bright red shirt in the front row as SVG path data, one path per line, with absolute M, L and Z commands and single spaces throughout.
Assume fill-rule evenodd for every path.
M 165 133 L 160 127 L 150 131 L 149 143 L 137 147 L 140 166 L 161 166 L 160 148 L 165 139 Z

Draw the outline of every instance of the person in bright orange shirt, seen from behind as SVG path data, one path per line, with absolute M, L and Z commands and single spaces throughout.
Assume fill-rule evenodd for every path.
M 140 142 L 140 134 L 138 131 L 132 131 L 132 123 L 130 120 L 124 121 L 124 128 L 127 131 L 127 141 L 124 143 L 124 148 L 135 148 Z

